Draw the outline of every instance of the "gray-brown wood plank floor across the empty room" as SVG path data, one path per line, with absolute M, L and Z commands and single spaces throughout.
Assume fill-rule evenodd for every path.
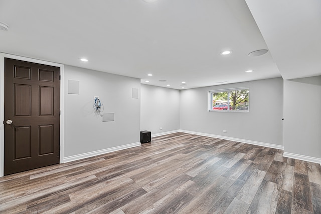
M 319 164 L 186 133 L 0 178 L 1 213 L 321 213 Z

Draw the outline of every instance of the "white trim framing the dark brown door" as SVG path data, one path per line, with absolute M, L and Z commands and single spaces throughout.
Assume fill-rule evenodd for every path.
M 23 60 L 32 63 L 38 63 L 43 65 L 50 65 L 60 67 L 60 158 L 59 163 L 64 162 L 64 94 L 65 94 L 65 66 L 59 63 L 53 63 L 43 60 L 32 59 L 28 57 L 21 57 L 12 54 L 6 54 L 0 52 L 0 177 L 4 176 L 4 167 L 5 167 L 5 132 L 4 132 L 4 123 L 5 120 L 5 58 L 11 58 L 16 60 Z

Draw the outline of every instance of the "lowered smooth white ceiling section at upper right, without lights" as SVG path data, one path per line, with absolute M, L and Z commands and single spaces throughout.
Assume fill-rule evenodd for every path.
M 245 0 L 284 80 L 321 75 L 320 0 Z

